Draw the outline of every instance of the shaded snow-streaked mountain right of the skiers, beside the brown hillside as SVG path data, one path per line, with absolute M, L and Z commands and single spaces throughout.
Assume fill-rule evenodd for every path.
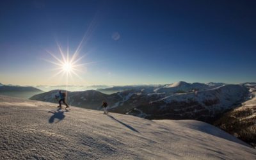
M 197 93 L 180 93 L 133 108 L 127 114 L 149 119 L 196 119 L 209 122 L 246 97 L 241 85 L 227 84 Z

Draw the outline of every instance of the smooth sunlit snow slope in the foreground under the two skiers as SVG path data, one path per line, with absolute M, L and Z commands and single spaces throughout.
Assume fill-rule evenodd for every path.
M 129 115 L 0 96 L 0 159 L 256 159 L 256 150 L 195 120 Z

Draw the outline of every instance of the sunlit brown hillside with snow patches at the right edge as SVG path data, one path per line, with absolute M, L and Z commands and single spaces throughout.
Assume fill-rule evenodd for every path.
M 214 125 L 256 148 L 256 83 L 245 83 L 248 100 L 222 115 Z

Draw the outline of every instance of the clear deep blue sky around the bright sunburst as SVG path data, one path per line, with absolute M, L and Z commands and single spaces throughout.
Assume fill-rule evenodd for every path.
M 256 81 L 256 1 L 0 1 L 0 83 Z M 77 75 L 56 75 L 76 53 Z M 79 45 L 80 44 L 80 45 Z

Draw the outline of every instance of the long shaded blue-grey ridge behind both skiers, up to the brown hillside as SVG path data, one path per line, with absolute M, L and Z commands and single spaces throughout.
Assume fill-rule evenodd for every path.
M 102 101 L 106 100 L 109 110 L 115 113 L 150 119 L 189 118 L 209 122 L 243 102 L 248 94 L 248 88 L 243 84 L 179 82 L 128 88 L 129 90 L 110 95 L 95 90 L 68 92 L 67 102 L 72 106 L 99 110 Z M 35 95 L 31 99 L 56 103 L 58 101 L 54 99 L 54 95 L 57 93 L 58 90 L 53 90 Z

